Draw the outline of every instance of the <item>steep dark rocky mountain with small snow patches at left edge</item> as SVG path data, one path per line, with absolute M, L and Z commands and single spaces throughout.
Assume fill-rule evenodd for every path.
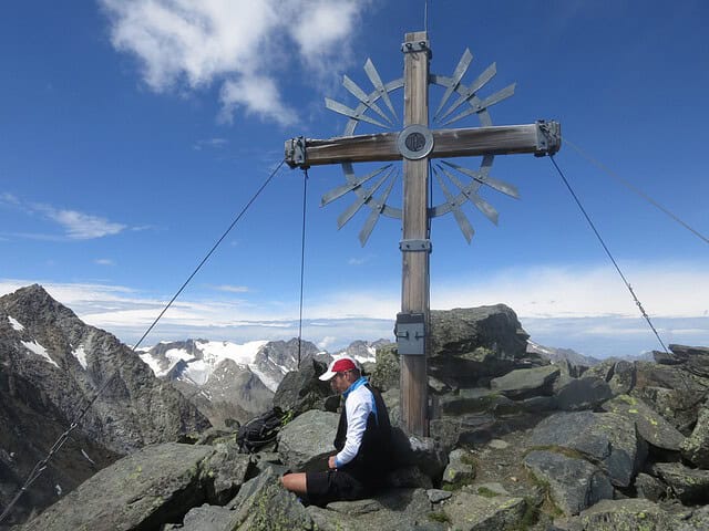
M 125 454 L 209 426 L 117 337 L 38 284 L 0 296 L 0 398 L 2 506 L 71 427 L 61 459 L 21 500 L 25 514 Z

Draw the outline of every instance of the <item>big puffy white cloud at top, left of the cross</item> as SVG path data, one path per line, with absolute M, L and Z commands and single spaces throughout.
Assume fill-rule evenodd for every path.
M 114 48 L 137 58 L 155 92 L 220 85 L 222 118 L 243 107 L 291 124 L 277 74 L 299 62 L 315 79 L 350 56 L 370 0 L 101 0 Z M 328 73 L 328 74 L 326 74 Z

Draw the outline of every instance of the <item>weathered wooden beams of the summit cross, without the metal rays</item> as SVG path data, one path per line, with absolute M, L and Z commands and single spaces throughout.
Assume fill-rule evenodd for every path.
M 404 128 L 399 133 L 286 142 L 291 167 L 402 160 L 403 205 L 401 313 L 397 343 L 401 357 L 401 418 L 409 434 L 429 435 L 429 160 L 442 157 L 513 153 L 554 154 L 561 145 L 555 122 L 514 126 L 429 129 L 429 61 L 425 32 L 407 33 L 404 52 Z M 379 94 L 373 100 L 381 97 Z M 368 101 L 368 105 L 373 102 Z M 353 189 L 358 185 L 353 185 Z

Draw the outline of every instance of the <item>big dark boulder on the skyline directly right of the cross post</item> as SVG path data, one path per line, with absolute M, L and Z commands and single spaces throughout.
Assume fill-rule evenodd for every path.
M 451 388 L 474 387 L 481 378 L 502 376 L 527 357 L 530 336 L 504 304 L 433 310 L 430 336 L 430 374 Z

